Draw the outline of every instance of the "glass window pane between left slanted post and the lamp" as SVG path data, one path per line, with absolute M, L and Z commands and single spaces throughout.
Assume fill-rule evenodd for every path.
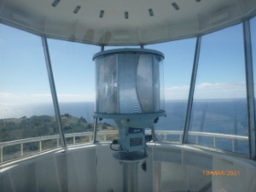
M 48 39 L 55 87 L 67 144 L 92 141 L 95 108 L 95 63 L 99 46 Z M 98 123 L 98 131 L 115 130 L 111 120 Z M 80 133 L 74 137 L 73 133 Z M 111 136 L 108 136 L 111 137 Z M 97 139 L 108 138 L 98 133 Z

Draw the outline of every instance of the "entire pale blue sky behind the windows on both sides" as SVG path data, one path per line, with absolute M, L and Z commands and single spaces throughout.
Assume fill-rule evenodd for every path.
M 251 22 L 253 58 L 256 58 L 256 19 Z M 0 32 L 0 104 L 51 102 L 41 38 L 2 24 Z M 241 25 L 203 36 L 195 99 L 246 96 L 242 39 Z M 166 55 L 166 100 L 188 98 L 195 40 L 145 46 Z M 92 55 L 101 48 L 54 39 L 48 43 L 59 102 L 94 101 Z

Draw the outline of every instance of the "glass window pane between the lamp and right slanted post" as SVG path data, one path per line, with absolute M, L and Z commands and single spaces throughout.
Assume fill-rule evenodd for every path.
M 189 85 L 195 55 L 195 38 L 145 46 L 165 55 L 166 118 L 155 124 L 158 139 L 181 142 L 186 118 Z

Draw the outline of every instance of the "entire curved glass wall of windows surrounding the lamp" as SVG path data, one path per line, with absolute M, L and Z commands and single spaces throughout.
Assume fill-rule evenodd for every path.
M 250 20 L 250 27 L 253 72 L 256 72 L 255 17 Z M 2 163 L 56 148 L 60 146 L 60 135 L 41 37 L 2 24 L 0 31 Z M 160 50 L 166 57 L 164 81 L 167 117 L 160 118 L 156 124 L 159 140 L 182 140 L 195 40 L 191 38 L 146 46 Z M 91 141 L 95 100 L 95 64 L 92 55 L 101 48 L 53 39 L 48 42 L 67 143 Z M 246 94 L 242 25 L 202 36 L 186 142 L 248 154 Z M 118 137 L 105 134 L 106 131 L 117 130 L 111 120 L 103 119 L 97 129 L 100 131 L 97 140 Z M 28 138 L 25 143 L 20 142 Z

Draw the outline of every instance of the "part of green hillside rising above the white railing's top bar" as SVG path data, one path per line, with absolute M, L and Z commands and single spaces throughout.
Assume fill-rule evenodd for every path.
M 61 115 L 61 123 L 65 133 L 93 131 L 93 124 L 83 117 L 77 118 L 69 114 Z M 117 130 L 113 125 L 100 123 L 98 131 Z M 16 119 L 0 119 L 0 143 L 24 138 L 42 137 L 58 134 L 55 116 L 41 115 Z

